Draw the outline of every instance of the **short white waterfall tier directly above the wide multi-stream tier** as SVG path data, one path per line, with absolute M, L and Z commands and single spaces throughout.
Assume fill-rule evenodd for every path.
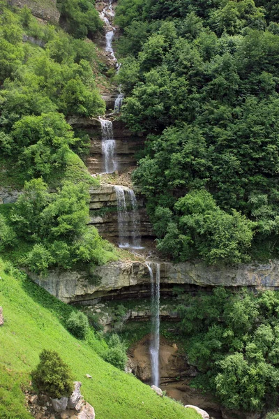
M 115 140 L 113 138 L 112 121 L 99 117 L 102 129 L 102 152 L 105 173 L 113 173 L 117 169 L 114 161 Z

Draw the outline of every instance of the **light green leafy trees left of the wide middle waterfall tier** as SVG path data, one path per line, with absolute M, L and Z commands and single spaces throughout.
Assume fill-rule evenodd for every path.
M 90 269 L 117 259 L 112 244 L 86 226 L 88 204 L 88 187 L 82 182 L 65 182 L 53 193 L 41 178 L 25 184 L 10 221 L 18 237 L 35 243 L 22 258 L 31 272 L 46 274 L 55 265 L 67 270 L 77 263 L 87 263 Z

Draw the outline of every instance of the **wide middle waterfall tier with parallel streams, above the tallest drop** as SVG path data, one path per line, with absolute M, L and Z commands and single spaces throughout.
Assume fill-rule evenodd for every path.
M 114 186 L 114 189 L 117 200 L 119 247 L 142 249 L 140 246 L 140 216 L 137 211 L 135 193 L 133 189 L 124 186 Z M 128 201 L 126 201 L 126 196 Z M 132 243 L 130 243 L 130 236 Z

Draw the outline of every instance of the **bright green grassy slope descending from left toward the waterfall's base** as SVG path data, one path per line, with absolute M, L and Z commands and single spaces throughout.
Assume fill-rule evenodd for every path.
M 52 348 L 82 381 L 82 394 L 96 409 L 98 419 L 198 419 L 167 397 L 158 397 L 149 386 L 104 362 L 96 351 L 103 344 L 91 335 L 79 341 L 63 328 L 72 307 L 56 300 L 27 279 L 3 272 L 0 259 L 0 305 L 5 324 L 0 328 L 0 418 L 31 418 L 24 411 L 20 385 L 38 363 L 43 348 Z M 87 379 L 85 374 L 93 378 Z

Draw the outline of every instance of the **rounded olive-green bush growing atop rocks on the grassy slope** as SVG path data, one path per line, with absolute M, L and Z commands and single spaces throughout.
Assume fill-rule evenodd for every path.
M 36 388 L 52 398 L 60 399 L 73 392 L 73 375 L 56 351 L 44 349 L 40 353 L 40 362 L 31 377 Z

